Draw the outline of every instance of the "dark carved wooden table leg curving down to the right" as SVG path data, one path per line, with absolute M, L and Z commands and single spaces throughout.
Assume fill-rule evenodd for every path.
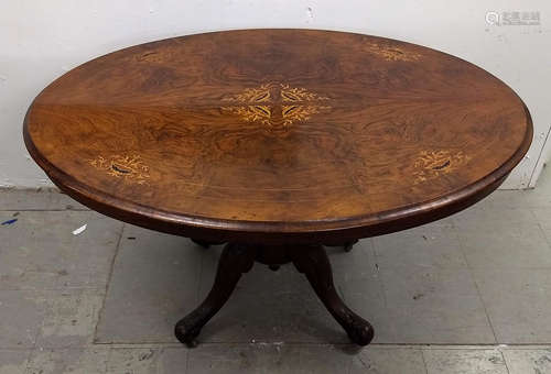
M 296 248 L 290 252 L 296 270 L 306 275 L 322 302 L 345 329 L 350 340 L 359 345 L 369 344 L 374 338 L 374 328 L 352 311 L 336 293 L 331 263 L 323 246 Z

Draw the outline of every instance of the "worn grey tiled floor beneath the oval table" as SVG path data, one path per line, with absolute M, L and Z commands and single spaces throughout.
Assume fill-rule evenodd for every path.
M 0 193 L 0 374 L 551 373 L 551 173 L 452 218 L 328 249 L 358 350 L 292 266 L 255 265 L 183 348 L 220 248 L 122 224 L 51 191 Z M 80 234 L 73 231 L 83 224 Z

